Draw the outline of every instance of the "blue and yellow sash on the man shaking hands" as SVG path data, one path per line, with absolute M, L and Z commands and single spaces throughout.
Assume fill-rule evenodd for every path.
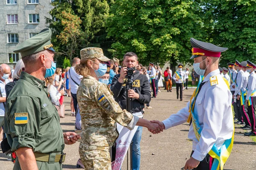
M 225 79 L 224 79 L 224 81 L 225 81 Z M 227 80 L 225 82 L 228 86 Z M 201 80 L 200 80 L 200 83 L 201 83 Z M 198 87 L 195 89 L 195 91 L 194 91 L 194 93 L 193 93 L 193 95 L 190 99 L 189 118 L 187 120 L 187 122 L 190 122 L 190 120 L 192 119 L 193 129 L 194 129 L 195 136 L 198 139 L 198 141 L 201 137 L 202 128 L 199 125 L 199 122 L 197 120 L 197 113 L 194 113 L 194 107 L 195 107 L 195 100 L 196 100 L 196 97 L 198 95 L 198 89 L 199 89 L 199 84 L 200 83 L 198 83 Z M 216 145 L 213 144 L 212 149 L 209 151 L 209 155 L 212 158 L 214 158 L 211 170 L 219 170 L 219 168 L 221 168 L 221 170 L 223 170 L 223 166 L 224 166 L 225 162 L 227 161 L 228 157 L 230 156 L 231 150 L 233 148 L 234 132 L 235 132 L 235 127 L 234 127 L 232 138 L 227 139 L 222 144 L 222 146 L 219 150 L 216 147 Z

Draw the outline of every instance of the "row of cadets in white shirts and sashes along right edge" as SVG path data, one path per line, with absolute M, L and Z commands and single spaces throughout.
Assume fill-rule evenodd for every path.
M 241 128 L 249 130 L 245 136 L 256 136 L 255 105 L 256 105 L 256 65 L 253 62 L 236 60 L 235 63 L 227 63 L 228 68 L 219 68 L 221 76 L 230 84 L 233 95 L 234 122 L 243 125 Z

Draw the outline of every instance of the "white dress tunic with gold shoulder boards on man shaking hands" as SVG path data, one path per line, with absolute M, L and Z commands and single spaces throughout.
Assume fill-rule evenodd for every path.
M 211 85 L 210 77 L 216 76 L 218 84 Z M 202 86 L 196 101 L 194 113 L 198 115 L 198 122 L 201 126 L 201 138 L 195 136 L 193 126 L 189 128 L 188 138 L 193 140 L 192 157 L 202 161 L 207 153 L 212 149 L 213 144 L 220 149 L 225 140 L 233 135 L 233 113 L 231 107 L 232 94 L 227 87 L 226 82 L 220 75 L 219 69 L 212 71 L 205 78 L 205 84 Z M 189 105 L 181 109 L 176 114 L 172 114 L 163 121 L 166 129 L 183 124 L 189 117 Z

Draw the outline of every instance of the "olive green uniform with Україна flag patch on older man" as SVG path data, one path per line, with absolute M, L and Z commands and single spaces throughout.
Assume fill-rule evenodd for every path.
M 55 158 L 55 154 L 64 149 L 59 119 L 58 111 L 48 97 L 45 82 L 21 72 L 6 102 L 4 133 L 12 151 L 29 147 L 34 153 L 51 153 Z M 59 162 L 37 161 L 37 165 L 38 169 L 61 169 Z M 14 169 L 20 169 L 18 159 Z

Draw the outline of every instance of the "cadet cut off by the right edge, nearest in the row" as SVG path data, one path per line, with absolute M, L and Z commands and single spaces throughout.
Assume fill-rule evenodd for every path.
M 256 74 L 254 72 L 256 65 L 249 60 L 247 60 L 247 71 L 250 72 L 247 85 L 247 96 L 246 103 L 248 105 L 248 115 L 251 121 L 251 130 L 248 133 L 244 133 L 245 136 L 256 136 L 256 114 L 255 114 L 255 105 L 256 105 Z

